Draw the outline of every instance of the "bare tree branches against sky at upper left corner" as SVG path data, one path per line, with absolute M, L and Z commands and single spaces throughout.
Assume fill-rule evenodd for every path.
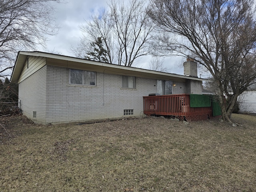
M 51 2 L 60 1 L 0 1 L 0 76 L 13 68 L 18 50 L 34 49 L 36 45 L 44 45 L 45 35 L 54 35 L 58 32 Z

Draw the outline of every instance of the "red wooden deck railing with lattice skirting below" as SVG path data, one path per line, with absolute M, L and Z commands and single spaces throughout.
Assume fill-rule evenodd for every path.
M 143 97 L 144 114 L 177 116 L 187 121 L 212 118 L 212 107 L 190 107 L 189 94 Z

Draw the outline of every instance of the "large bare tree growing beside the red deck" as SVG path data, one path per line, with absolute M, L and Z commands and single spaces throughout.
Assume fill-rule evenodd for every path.
M 237 97 L 256 78 L 253 0 L 152 0 L 148 14 L 166 36 L 176 35 L 166 50 L 194 57 L 210 72 L 222 118 L 231 122 Z

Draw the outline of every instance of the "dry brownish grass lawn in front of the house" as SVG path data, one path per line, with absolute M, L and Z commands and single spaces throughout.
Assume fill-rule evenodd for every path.
M 0 192 L 256 191 L 256 116 L 32 124 L 0 117 Z M 6 130 L 10 134 L 7 134 Z

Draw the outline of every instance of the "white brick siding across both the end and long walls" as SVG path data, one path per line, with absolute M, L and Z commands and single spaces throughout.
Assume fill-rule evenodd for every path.
M 121 75 L 96 72 L 96 86 L 72 85 L 69 68 L 47 65 L 20 82 L 19 100 L 24 115 L 42 124 L 127 117 L 129 109 L 142 116 L 143 96 L 156 93 L 156 81 L 136 77 L 135 89 L 122 88 Z M 202 94 L 200 81 L 173 84 L 173 94 Z

